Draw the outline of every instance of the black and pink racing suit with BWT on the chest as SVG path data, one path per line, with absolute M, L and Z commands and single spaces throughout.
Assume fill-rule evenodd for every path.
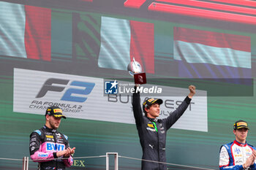
M 67 136 L 45 125 L 39 130 L 33 131 L 30 135 L 30 157 L 34 162 L 39 162 L 40 170 L 64 170 L 66 166 L 72 166 L 72 156 L 64 159 L 54 159 L 57 158 L 56 152 L 65 150 L 67 147 L 69 147 Z

